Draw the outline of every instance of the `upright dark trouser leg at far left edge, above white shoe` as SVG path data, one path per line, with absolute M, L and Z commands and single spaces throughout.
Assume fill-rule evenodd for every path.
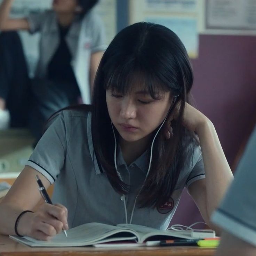
M 10 111 L 11 127 L 27 126 L 30 80 L 16 32 L 0 33 L 0 98 L 5 99 Z

